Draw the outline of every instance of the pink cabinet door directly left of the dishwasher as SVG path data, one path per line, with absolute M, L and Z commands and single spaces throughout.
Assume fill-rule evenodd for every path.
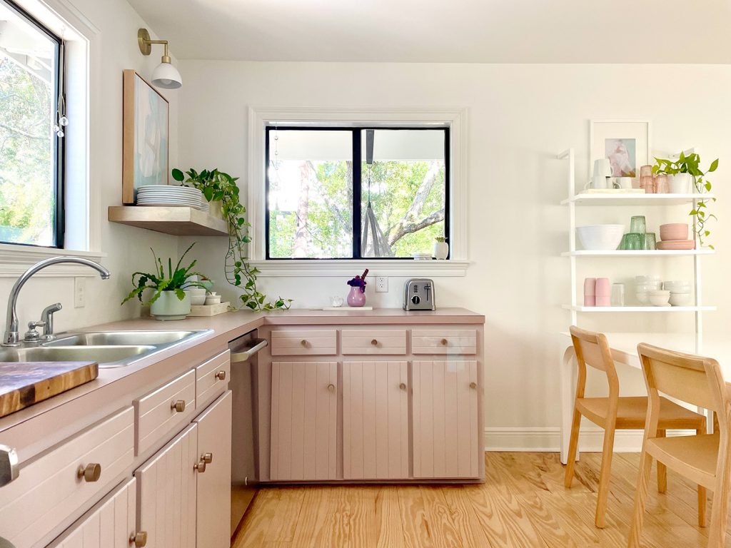
M 198 457 L 211 454 L 211 463 L 198 473 L 199 548 L 231 544 L 231 401 L 226 392 L 195 419 Z

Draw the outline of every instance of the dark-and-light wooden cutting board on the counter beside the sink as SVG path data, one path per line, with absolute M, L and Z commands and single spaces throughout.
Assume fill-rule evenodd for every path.
M 96 362 L 0 362 L 0 416 L 94 380 Z

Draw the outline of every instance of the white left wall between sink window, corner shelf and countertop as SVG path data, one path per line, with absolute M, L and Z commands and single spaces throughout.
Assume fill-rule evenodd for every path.
M 59 0 L 50 0 L 53 6 Z M 66 6 L 69 2 L 60 0 Z M 22 0 L 20 2 L 23 3 Z M 56 314 L 56 330 L 68 330 L 132 317 L 138 313 L 135 303 L 121 307 L 131 288 L 130 276 L 152 265 L 150 246 L 158 255 L 177 256 L 177 237 L 162 235 L 121 224 L 109 223 L 107 207 L 121 204 L 122 191 L 122 71 L 137 69 L 149 77 L 162 56 L 162 46 L 154 47 L 145 57 L 137 47 L 137 28 L 147 26 L 125 0 L 73 0 L 73 7 L 99 30 L 98 45 L 102 63 L 98 74 L 91 75 L 91 185 L 100 189 L 102 208 L 102 259 L 112 278 L 86 278 L 87 304 L 74 308 L 73 278 L 32 278 L 18 300 L 21 335 L 28 321 L 39 319 L 42 309 L 61 302 L 64 310 Z M 152 29 L 150 29 L 152 32 Z M 154 36 L 153 36 L 154 38 Z M 173 61 L 175 62 L 175 61 Z M 178 93 L 160 90 L 170 101 L 170 164 L 178 153 Z M 73 120 L 72 120 L 73 123 Z M 72 131 L 69 126 L 69 131 Z M 0 330 L 4 330 L 7 294 L 14 278 L 0 278 Z

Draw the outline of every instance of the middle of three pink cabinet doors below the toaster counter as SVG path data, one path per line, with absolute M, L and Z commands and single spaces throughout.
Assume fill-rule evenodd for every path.
M 407 362 L 343 362 L 343 476 L 409 477 Z

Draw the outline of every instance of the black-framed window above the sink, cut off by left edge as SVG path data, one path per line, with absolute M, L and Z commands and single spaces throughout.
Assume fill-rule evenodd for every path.
M 62 41 L 10 0 L 0 29 L 0 243 L 62 248 Z

